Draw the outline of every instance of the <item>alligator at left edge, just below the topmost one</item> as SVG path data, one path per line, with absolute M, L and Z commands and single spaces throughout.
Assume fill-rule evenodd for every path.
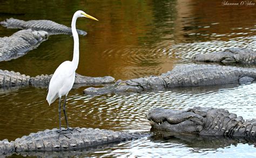
M 0 38 L 0 61 L 23 56 L 48 39 L 45 31 L 21 30 L 12 36 Z

